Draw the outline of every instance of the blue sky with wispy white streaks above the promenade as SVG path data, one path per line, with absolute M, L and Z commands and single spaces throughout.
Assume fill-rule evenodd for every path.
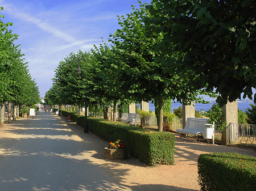
M 150 3 L 151 0 L 142 0 Z M 19 35 L 24 62 L 40 96 L 52 86 L 55 69 L 69 53 L 88 51 L 119 27 L 117 15 L 129 14 L 137 0 L 0 0 L 4 23 Z

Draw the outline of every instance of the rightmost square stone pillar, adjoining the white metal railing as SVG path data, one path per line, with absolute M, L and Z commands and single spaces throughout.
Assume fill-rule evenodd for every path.
M 237 139 L 237 125 L 234 125 L 232 133 L 232 124 L 238 124 L 238 101 L 229 102 L 222 107 L 223 111 L 223 121 L 226 122 L 226 128 L 222 131 L 221 143 L 222 145 L 228 145 L 229 140 L 232 139 L 234 142 L 238 141 Z M 228 128 L 229 127 L 229 128 Z M 228 131 L 229 129 L 229 131 Z

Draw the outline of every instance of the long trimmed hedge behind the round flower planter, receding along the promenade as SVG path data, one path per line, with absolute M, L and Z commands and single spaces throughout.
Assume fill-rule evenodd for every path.
M 85 116 L 73 112 L 62 112 L 64 116 L 75 115 L 74 121 L 84 127 Z M 73 120 L 72 120 L 73 121 Z M 147 165 L 174 164 L 175 135 L 167 132 L 148 131 L 137 126 L 121 122 L 104 120 L 103 118 L 87 118 L 88 129 L 93 134 L 108 142 L 122 139 L 126 143 L 129 154 L 136 156 Z

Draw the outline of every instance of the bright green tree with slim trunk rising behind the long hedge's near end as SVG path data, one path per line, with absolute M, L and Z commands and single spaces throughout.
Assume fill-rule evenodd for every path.
M 112 65 L 119 74 L 117 80 L 125 85 L 125 96 L 137 101 L 159 101 L 158 128 L 162 131 L 163 100 L 170 98 L 189 102 L 196 99 L 197 93 L 187 86 L 187 79 L 179 77 L 181 73 L 177 69 L 168 69 L 168 62 L 175 62 L 179 52 L 168 54 L 154 49 L 154 45 L 163 40 L 163 35 L 161 32 L 146 32 L 143 20 L 152 19 L 152 16 L 145 6 L 141 3 L 140 9 L 133 7 L 130 14 L 119 16 L 122 28 L 110 35 L 110 41 L 122 59 Z M 148 26 L 151 24 L 148 23 Z

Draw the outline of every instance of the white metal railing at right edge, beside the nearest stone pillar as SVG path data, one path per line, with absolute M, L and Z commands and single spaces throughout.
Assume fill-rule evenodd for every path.
M 256 144 L 256 125 L 230 123 L 227 131 L 229 142 Z

